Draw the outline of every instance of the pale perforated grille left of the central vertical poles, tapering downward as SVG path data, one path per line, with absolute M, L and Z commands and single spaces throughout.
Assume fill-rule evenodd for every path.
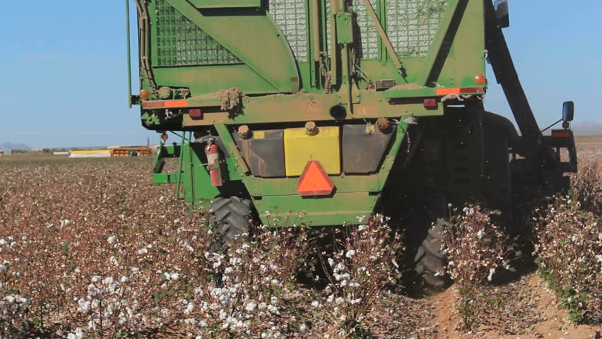
M 297 61 L 307 61 L 307 9 L 305 1 L 270 0 L 268 11 L 283 30 Z

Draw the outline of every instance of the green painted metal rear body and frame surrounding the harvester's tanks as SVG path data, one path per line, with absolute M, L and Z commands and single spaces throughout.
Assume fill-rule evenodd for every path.
M 243 192 L 266 225 L 361 222 L 399 167 L 407 117 L 444 115 L 444 105 L 427 109 L 423 99 L 440 100 L 440 88 L 478 88 L 466 95 L 486 90 L 475 83 L 475 76 L 485 74 L 479 0 L 136 4 L 142 18 L 148 15 L 148 25 L 141 20 L 141 37 L 149 44 L 141 49 L 141 83 L 152 94 L 141 103 L 161 102 L 155 94 L 161 86 L 187 93 L 164 100 L 165 107 L 141 109 L 147 128 L 189 133 L 177 148 L 160 145 L 158 159 L 179 157 L 179 169 L 155 173 L 153 182 L 182 186 L 194 208 L 207 209 L 216 196 Z M 385 79 L 398 86 L 374 90 L 374 83 Z M 201 109 L 201 118 L 188 114 L 192 107 Z M 379 171 L 331 176 L 336 190 L 321 198 L 297 194 L 298 177 L 254 177 L 232 138 L 242 124 L 287 129 L 307 121 L 373 124 L 383 117 L 398 121 L 399 128 Z M 223 186 L 211 185 L 206 144 L 194 141 L 193 131 L 195 138 L 196 133 L 218 138 L 225 157 Z

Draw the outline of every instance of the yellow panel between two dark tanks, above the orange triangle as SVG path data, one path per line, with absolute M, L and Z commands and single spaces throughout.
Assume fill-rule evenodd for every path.
M 317 160 L 328 174 L 341 173 L 341 147 L 338 127 L 319 127 L 311 136 L 302 129 L 284 130 L 286 175 L 301 175 L 310 160 Z

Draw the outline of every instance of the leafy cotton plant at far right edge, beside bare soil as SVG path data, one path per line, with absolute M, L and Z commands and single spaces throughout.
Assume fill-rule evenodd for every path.
M 570 201 L 570 202 L 569 202 Z M 582 209 L 571 197 L 557 197 L 536 215 L 536 247 L 541 273 L 572 320 L 602 323 L 601 213 Z

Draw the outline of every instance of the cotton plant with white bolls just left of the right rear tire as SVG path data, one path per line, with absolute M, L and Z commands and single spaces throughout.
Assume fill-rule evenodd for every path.
M 401 234 L 391 230 L 382 215 L 374 215 L 365 225 L 349 227 L 335 240 L 334 251 L 323 253 L 322 263 L 329 284 L 321 307 L 335 324 L 330 338 L 359 335 L 364 320 L 377 306 L 388 286 L 400 277 L 396 262 L 403 251 Z

